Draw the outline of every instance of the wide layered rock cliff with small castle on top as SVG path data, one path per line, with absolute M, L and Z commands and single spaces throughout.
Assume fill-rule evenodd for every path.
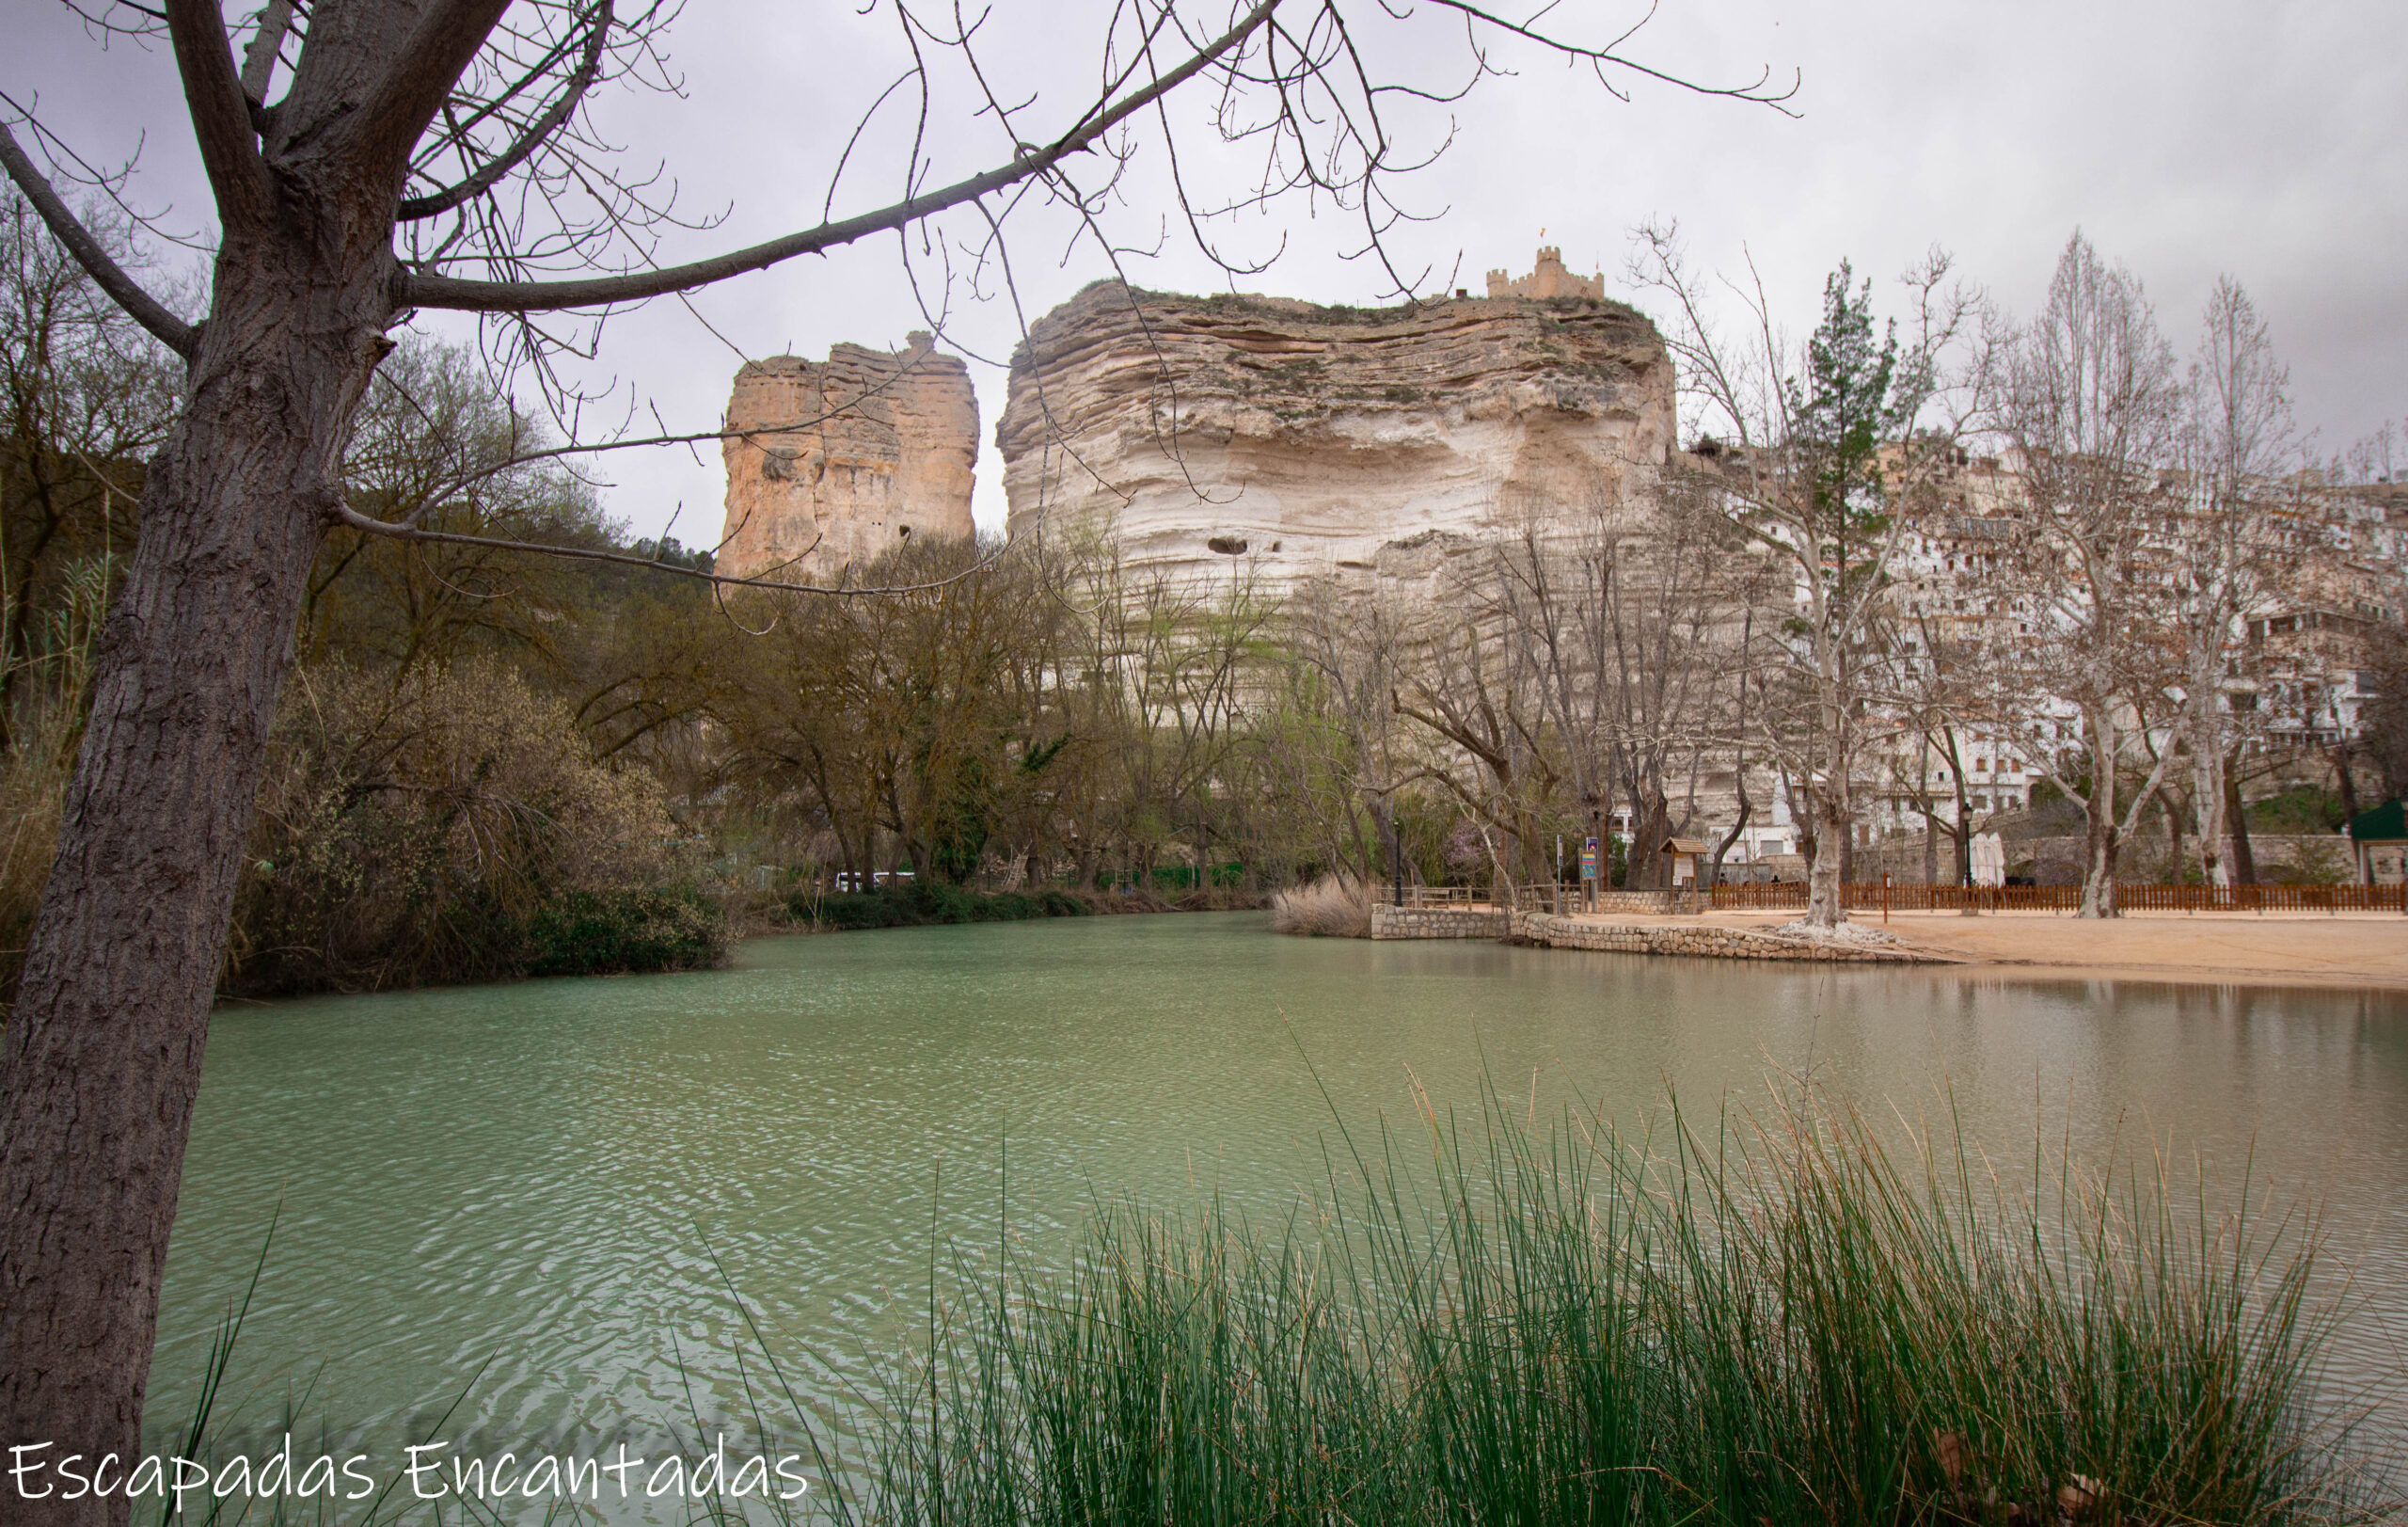
M 1652 499 L 1671 361 L 1592 299 L 1317 308 L 1096 284 L 1011 361 L 1014 535 L 1117 518 L 1139 566 L 1413 578 L 1524 515 Z

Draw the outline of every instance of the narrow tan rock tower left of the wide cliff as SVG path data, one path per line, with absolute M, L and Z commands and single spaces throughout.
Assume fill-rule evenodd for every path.
M 915 535 L 970 535 L 978 395 L 929 335 L 898 352 L 838 344 L 737 371 L 718 568 L 831 578 Z

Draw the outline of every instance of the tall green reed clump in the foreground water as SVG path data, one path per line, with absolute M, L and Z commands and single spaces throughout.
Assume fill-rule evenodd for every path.
M 956 1269 L 867 1520 L 2355 1522 L 2316 1228 L 2162 1173 L 2008 1190 L 1847 1110 L 1339 1154 L 1274 1233 L 1098 1211 Z M 2035 1161 L 2037 1166 L 2037 1161 Z M 850 1513 L 845 1513 L 850 1515 Z

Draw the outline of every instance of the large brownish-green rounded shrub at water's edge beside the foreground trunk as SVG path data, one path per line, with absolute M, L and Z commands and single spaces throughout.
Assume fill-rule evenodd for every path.
M 491 660 L 296 670 L 224 990 L 289 995 L 708 963 L 689 850 L 638 768 Z M 710 951 L 708 956 L 703 951 Z

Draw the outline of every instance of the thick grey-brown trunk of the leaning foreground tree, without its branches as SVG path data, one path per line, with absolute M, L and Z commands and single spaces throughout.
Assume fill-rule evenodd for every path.
M 354 231 L 327 222 L 308 231 Z M 344 431 L 390 349 L 388 270 L 229 229 L 99 643 L 0 1084 L 0 1433 L 51 1460 L 140 1445 L 234 882 Z M 14 1520 L 125 1510 L 84 1496 Z

